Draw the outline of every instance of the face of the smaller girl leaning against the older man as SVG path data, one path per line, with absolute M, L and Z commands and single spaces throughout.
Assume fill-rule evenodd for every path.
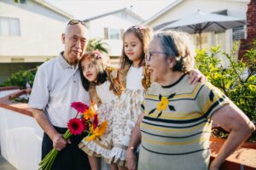
M 85 59 L 81 62 L 81 69 L 83 71 L 84 78 L 86 78 L 89 82 L 96 82 L 97 78 L 97 69 L 96 64 L 94 64 L 90 57 L 85 57 Z

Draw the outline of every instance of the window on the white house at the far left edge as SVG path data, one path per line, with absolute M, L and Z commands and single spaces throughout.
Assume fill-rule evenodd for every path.
M 0 17 L 0 36 L 20 36 L 20 20 Z

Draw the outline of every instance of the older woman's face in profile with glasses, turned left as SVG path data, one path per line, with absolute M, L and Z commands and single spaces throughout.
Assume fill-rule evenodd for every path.
M 147 56 L 148 70 L 150 71 L 150 76 L 154 77 L 155 80 L 160 81 L 161 78 L 168 72 L 170 69 L 170 59 L 166 59 L 166 54 L 160 48 L 160 40 L 155 38 L 149 43 Z

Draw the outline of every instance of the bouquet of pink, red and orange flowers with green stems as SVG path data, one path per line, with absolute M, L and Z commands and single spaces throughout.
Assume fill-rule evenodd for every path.
M 87 132 L 85 140 L 91 141 L 99 138 L 105 133 L 108 122 L 105 120 L 99 122 L 99 116 L 93 107 L 83 104 L 82 102 L 73 102 L 71 107 L 78 111 L 75 118 L 70 119 L 67 123 L 67 131 L 63 134 L 63 139 L 69 139 L 72 135 L 82 134 Z M 39 163 L 39 170 L 51 169 L 55 157 L 57 156 L 59 150 L 52 149 L 49 151 L 47 156 Z

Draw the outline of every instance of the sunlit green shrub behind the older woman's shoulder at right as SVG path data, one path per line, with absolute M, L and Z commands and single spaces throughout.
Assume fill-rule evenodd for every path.
M 234 44 L 231 54 L 212 47 L 210 52 L 198 50 L 196 67 L 207 76 L 214 86 L 220 88 L 244 113 L 256 121 L 256 42 L 247 51 L 246 59 L 235 60 L 238 43 Z M 217 58 L 221 55 L 230 61 L 230 66 L 224 68 Z M 243 61 L 246 60 L 246 61 Z

